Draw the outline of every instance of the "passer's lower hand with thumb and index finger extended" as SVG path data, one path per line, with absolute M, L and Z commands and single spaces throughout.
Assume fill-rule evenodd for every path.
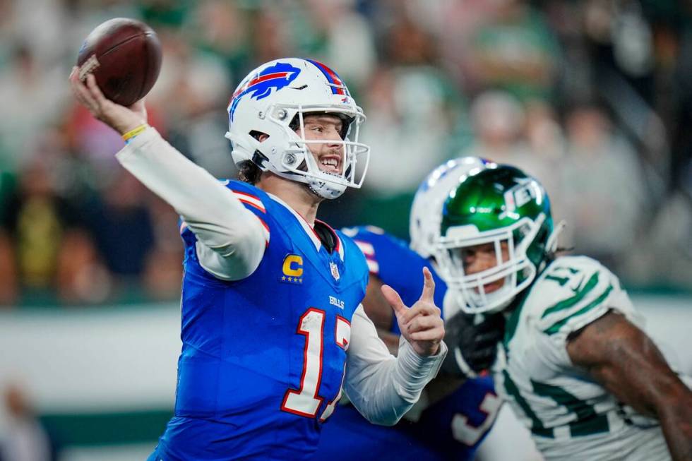
M 419 355 L 434 355 L 439 352 L 440 342 L 445 335 L 440 309 L 435 306 L 435 282 L 428 268 L 423 268 L 423 292 L 418 301 L 408 308 L 399 294 L 389 285 L 382 285 L 382 294 L 394 309 L 399 330 Z

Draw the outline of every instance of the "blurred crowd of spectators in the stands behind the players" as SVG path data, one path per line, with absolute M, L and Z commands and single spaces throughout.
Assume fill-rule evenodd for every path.
M 235 173 L 239 80 L 311 57 L 349 85 L 373 152 L 364 188 L 323 208 L 334 227 L 405 238 L 426 172 L 479 155 L 544 183 L 562 246 L 631 287 L 692 287 L 692 1 L 0 0 L 0 304 L 179 296 L 177 216 L 67 85 L 121 16 L 162 42 L 150 124 L 215 176 Z

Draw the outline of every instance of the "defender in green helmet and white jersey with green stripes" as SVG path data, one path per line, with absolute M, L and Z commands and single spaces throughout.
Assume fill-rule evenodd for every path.
M 556 255 L 539 182 L 499 165 L 443 206 L 438 258 L 467 313 L 506 316 L 494 365 L 546 460 L 692 460 L 692 392 L 642 330 L 618 278 Z

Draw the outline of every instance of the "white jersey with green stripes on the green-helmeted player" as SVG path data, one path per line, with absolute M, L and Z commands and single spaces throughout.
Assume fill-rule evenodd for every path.
M 609 310 L 643 327 L 618 278 L 585 256 L 561 256 L 508 318 L 494 367 L 546 460 L 669 460 L 660 425 L 619 402 L 567 353 L 567 337 Z

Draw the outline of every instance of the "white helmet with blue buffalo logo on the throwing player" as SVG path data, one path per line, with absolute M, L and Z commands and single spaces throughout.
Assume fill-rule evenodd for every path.
M 343 121 L 335 140 L 306 140 L 303 118 L 328 113 Z M 263 171 L 307 184 L 323 198 L 336 198 L 347 187 L 363 184 L 370 148 L 358 142 L 363 110 L 330 68 L 311 59 L 285 58 L 249 73 L 228 104 L 228 133 L 236 164 L 251 160 Z M 259 140 L 261 135 L 263 140 Z M 323 172 L 309 144 L 342 146 L 340 174 Z

